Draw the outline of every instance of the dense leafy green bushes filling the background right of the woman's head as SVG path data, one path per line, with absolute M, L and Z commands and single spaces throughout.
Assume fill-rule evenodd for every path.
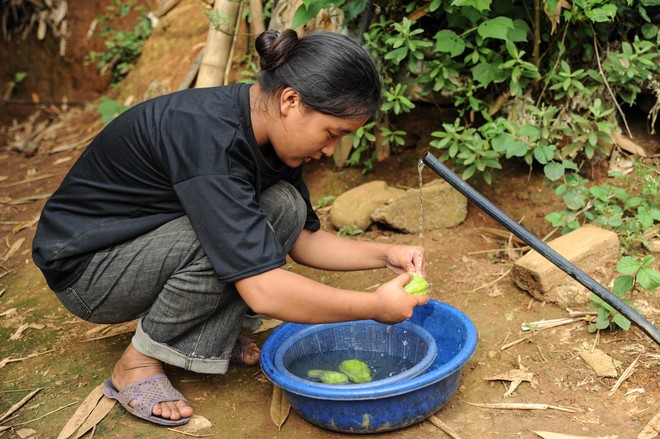
M 616 127 L 614 99 L 634 104 L 644 83 L 660 74 L 660 34 L 649 10 L 655 3 L 578 0 L 570 9 L 559 0 L 543 3 L 557 18 L 542 13 L 537 22 L 532 0 L 375 2 L 377 19 L 362 37 L 385 86 L 376 123 L 389 121 L 385 128 L 398 131 L 403 143 L 397 144 L 404 144 L 406 135 L 390 122 L 414 108 L 413 93 L 451 97 L 458 119 L 442 124 L 451 130 L 444 134 L 439 126 L 431 146 L 468 179 L 491 181 L 505 160 L 524 157 L 560 181 L 584 159 L 606 154 Z M 296 25 L 337 7 L 350 26 L 366 5 L 305 0 Z M 503 97 L 510 105 L 494 114 Z M 511 124 L 492 131 L 506 125 L 502 120 Z M 368 172 L 373 146 L 356 142 L 354 148 L 348 164 Z

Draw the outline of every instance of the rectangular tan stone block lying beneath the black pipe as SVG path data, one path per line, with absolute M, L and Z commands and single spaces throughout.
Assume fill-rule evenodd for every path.
M 601 283 L 614 270 L 619 257 L 616 233 L 592 225 L 582 226 L 548 245 Z M 515 262 L 512 276 L 518 287 L 536 299 L 561 307 L 589 302 L 591 291 L 536 251 Z

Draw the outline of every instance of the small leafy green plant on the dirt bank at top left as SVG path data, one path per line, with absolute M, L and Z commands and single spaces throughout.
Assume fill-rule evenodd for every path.
M 131 12 L 138 12 L 137 24 L 129 31 L 116 29 L 117 23 L 125 20 Z M 96 35 L 105 41 L 106 50 L 91 51 L 87 61 L 96 65 L 102 74 L 110 71 L 112 84 L 118 84 L 133 68 L 142 53 L 144 43 L 151 35 L 151 21 L 144 8 L 137 5 L 136 0 L 114 0 L 106 6 L 106 12 L 98 17 Z

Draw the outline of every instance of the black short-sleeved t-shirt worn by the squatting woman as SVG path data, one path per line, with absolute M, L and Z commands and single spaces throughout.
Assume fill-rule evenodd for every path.
M 302 169 L 270 166 L 254 138 L 248 84 L 189 89 L 145 101 L 90 143 L 46 203 L 33 258 L 55 291 L 94 254 L 187 215 L 218 279 L 233 282 L 286 262 L 259 207 L 285 180 L 320 222 Z

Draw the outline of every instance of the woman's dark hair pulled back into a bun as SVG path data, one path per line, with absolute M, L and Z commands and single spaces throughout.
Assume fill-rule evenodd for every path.
M 337 117 L 372 117 L 381 81 L 373 59 L 346 35 L 317 32 L 298 38 L 291 29 L 257 37 L 259 85 L 267 94 L 291 87 L 304 105 Z

